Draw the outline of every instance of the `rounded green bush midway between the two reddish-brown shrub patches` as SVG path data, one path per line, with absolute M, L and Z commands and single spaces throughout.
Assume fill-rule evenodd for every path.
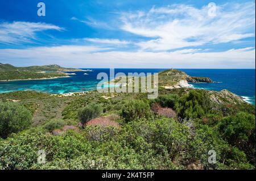
M 146 100 L 129 100 L 123 104 L 121 115 L 126 123 L 142 117 L 149 118 L 150 106 Z

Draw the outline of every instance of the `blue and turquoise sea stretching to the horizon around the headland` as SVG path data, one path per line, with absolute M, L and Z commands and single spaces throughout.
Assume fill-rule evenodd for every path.
M 86 68 L 87 69 L 87 68 Z M 69 78 L 57 78 L 46 80 L 10 81 L 0 82 L 0 93 L 35 90 L 51 94 L 63 94 L 68 92 L 81 92 L 95 90 L 97 74 L 105 72 L 109 75 L 109 69 L 89 69 L 92 71 L 69 72 Z M 166 69 L 115 69 L 115 73 L 155 73 Z M 198 89 L 217 90 L 228 89 L 255 105 L 255 69 L 179 69 L 188 75 L 198 77 L 210 77 L 214 83 L 193 83 Z M 88 75 L 86 75 L 86 74 Z M 113 78 L 113 77 L 112 77 Z

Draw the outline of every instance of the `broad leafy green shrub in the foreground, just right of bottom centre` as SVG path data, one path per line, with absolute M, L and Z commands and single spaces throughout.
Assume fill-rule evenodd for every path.
M 154 150 L 155 155 L 170 161 L 188 149 L 190 139 L 187 126 L 167 118 L 131 121 L 123 128 L 121 137 L 138 152 Z

